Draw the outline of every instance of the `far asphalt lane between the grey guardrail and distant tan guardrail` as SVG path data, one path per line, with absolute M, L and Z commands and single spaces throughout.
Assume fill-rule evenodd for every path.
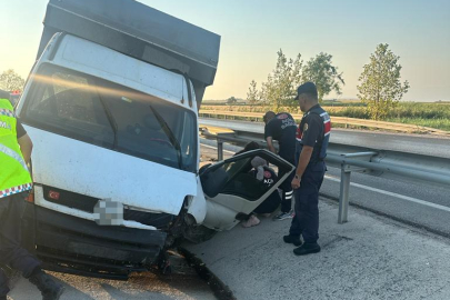
M 262 133 L 264 131 L 262 122 L 200 118 L 199 123 L 258 133 Z M 450 137 L 332 129 L 331 142 L 431 157 L 450 158 Z

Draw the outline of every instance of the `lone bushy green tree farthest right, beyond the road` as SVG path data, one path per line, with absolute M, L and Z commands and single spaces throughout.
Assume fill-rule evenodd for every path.
M 370 54 L 370 62 L 363 67 L 359 77 L 361 83 L 357 87 L 358 97 L 374 120 L 383 119 L 390 109 L 397 107 L 410 87 L 408 81 L 400 82 L 400 57 L 388 48 L 387 43 L 377 46 L 376 52 Z

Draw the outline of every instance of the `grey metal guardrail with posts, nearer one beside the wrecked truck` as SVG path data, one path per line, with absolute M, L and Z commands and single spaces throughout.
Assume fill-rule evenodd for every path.
M 254 131 L 248 132 L 248 134 L 242 131 L 212 134 L 207 128 L 203 128 L 201 134 L 207 139 L 217 140 L 219 160 L 223 159 L 223 142 L 244 146 L 249 141 L 257 141 L 261 147 L 267 147 L 263 133 Z M 418 180 L 422 184 L 432 183 L 450 187 L 450 159 L 447 158 L 331 142 L 326 161 L 327 164 L 341 169 L 338 223 L 348 221 L 351 172 L 363 172 L 396 180 Z

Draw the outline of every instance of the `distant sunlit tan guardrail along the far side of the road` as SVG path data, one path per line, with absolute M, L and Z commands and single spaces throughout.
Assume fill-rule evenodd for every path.
M 222 116 L 226 119 L 233 119 L 233 118 L 246 118 L 249 120 L 262 120 L 264 113 L 262 112 L 243 112 L 243 111 L 221 111 L 221 110 L 200 110 L 200 117 L 211 117 L 211 116 Z M 293 113 L 292 118 L 296 120 L 300 120 L 303 114 Z M 366 120 L 366 119 L 356 119 L 356 118 L 347 118 L 347 117 L 331 117 L 331 122 L 338 124 L 347 126 L 358 126 L 358 127 L 367 127 L 367 128 L 379 128 L 379 129 L 387 129 L 387 130 L 394 130 L 400 132 L 420 132 L 420 133 L 430 133 L 430 134 L 440 134 L 440 136 L 450 136 L 450 132 L 444 130 L 439 130 L 429 127 L 422 126 L 413 126 L 413 124 L 404 124 L 404 123 L 394 123 L 394 122 L 384 122 L 384 121 L 373 121 L 373 120 Z

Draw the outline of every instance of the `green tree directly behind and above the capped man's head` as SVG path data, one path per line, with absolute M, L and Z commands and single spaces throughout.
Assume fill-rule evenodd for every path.
M 320 52 L 316 58 L 311 58 L 303 67 L 301 81 L 312 81 L 316 83 L 319 101 L 331 91 L 341 94 L 341 86 L 346 84 L 342 72 L 332 64 L 332 56 Z

